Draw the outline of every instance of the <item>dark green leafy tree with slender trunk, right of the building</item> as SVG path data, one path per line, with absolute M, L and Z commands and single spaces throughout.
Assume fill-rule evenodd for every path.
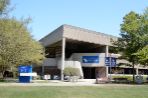
M 121 24 L 121 38 L 115 42 L 118 50 L 122 51 L 124 59 L 127 59 L 133 66 L 133 80 L 135 64 L 140 63 L 138 56 L 134 55 L 147 45 L 148 42 L 148 8 L 143 14 L 137 14 L 133 11 L 123 18 Z

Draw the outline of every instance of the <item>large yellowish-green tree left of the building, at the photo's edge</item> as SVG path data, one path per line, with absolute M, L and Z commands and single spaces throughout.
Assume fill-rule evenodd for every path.
M 4 3 L 6 1 L 0 1 L 4 4 L 0 12 L 7 9 L 9 3 Z M 44 59 L 42 45 L 28 30 L 29 20 L 0 17 L 0 73 L 18 65 L 40 64 Z

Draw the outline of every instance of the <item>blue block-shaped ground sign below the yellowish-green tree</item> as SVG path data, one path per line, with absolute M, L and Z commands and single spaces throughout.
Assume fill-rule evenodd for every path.
M 32 80 L 32 76 L 27 76 L 24 73 L 32 73 L 32 66 L 21 65 L 18 67 L 18 72 L 20 83 L 30 83 L 30 81 Z M 20 75 L 21 73 L 23 73 L 24 75 Z

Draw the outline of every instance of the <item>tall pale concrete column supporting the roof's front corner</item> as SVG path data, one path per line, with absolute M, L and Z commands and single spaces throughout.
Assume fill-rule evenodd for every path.
M 65 65 L 65 47 L 66 47 L 66 39 L 62 38 L 62 58 L 61 58 L 61 80 L 64 80 L 64 65 Z

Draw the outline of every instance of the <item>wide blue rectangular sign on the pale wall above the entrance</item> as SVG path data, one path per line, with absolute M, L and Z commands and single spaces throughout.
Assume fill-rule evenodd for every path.
M 82 56 L 83 63 L 99 63 L 99 56 Z

